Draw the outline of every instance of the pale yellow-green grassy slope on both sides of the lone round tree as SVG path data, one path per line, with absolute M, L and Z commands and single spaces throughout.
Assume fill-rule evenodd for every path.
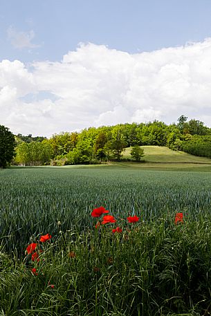
M 184 151 L 173 151 L 167 147 L 159 146 L 142 146 L 145 151 L 143 159 L 145 162 L 163 162 L 163 163 L 199 163 L 210 164 L 211 159 L 193 156 L 185 153 Z M 125 148 L 123 153 L 124 158 L 131 158 L 131 147 Z

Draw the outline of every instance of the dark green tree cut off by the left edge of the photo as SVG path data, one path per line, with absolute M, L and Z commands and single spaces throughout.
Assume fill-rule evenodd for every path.
M 6 168 L 15 155 L 15 136 L 8 127 L 0 125 L 0 167 Z

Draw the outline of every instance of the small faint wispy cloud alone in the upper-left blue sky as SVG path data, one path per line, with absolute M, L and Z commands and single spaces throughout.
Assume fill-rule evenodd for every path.
M 35 32 L 30 30 L 28 32 L 18 32 L 10 26 L 8 28 L 8 39 L 10 40 L 12 46 L 15 48 L 37 48 L 39 45 L 33 44 L 31 41 L 35 37 Z

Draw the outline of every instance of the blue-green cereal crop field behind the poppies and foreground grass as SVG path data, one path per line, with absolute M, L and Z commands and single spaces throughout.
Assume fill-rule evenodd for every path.
M 163 212 L 196 216 L 210 210 L 210 173 L 151 171 L 122 165 L 26 167 L 1 171 L 1 234 L 9 248 L 24 247 L 32 234 L 91 227 L 91 210 L 103 205 L 120 216 L 149 220 Z M 18 241 L 18 243 L 16 243 Z

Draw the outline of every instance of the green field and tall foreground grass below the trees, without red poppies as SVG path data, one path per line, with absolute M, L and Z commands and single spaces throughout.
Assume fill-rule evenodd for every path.
M 0 315 L 210 315 L 211 176 L 201 167 L 1 170 Z M 100 206 L 116 223 L 95 227 Z

